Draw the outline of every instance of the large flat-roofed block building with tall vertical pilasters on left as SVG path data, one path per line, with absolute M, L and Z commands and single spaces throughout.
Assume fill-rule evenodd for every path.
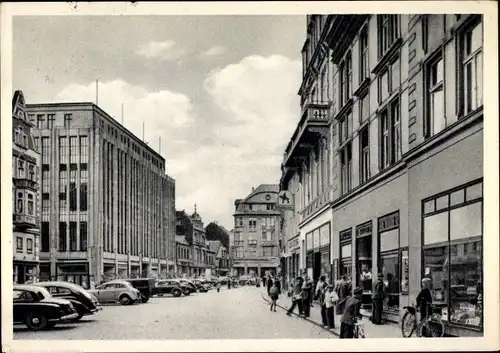
M 88 287 L 173 271 L 165 159 L 92 103 L 27 111 L 42 158 L 40 278 Z

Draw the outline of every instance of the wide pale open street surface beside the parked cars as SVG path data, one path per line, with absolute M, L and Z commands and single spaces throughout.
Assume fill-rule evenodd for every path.
M 152 298 L 133 306 L 106 305 L 79 323 L 46 331 L 14 326 L 14 339 L 273 339 L 336 338 L 332 333 L 283 310 L 270 312 L 262 288 L 227 287 L 220 293 Z

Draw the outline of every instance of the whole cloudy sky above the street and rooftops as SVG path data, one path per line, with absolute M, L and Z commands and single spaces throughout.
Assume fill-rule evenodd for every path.
M 232 228 L 234 199 L 278 183 L 299 118 L 305 16 L 52 16 L 13 20 L 13 89 L 95 102 L 176 179 L 176 208 Z

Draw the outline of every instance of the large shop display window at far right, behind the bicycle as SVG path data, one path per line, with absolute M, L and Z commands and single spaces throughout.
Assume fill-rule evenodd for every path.
M 482 180 L 422 203 L 423 276 L 434 304 L 450 323 L 480 328 L 483 321 Z

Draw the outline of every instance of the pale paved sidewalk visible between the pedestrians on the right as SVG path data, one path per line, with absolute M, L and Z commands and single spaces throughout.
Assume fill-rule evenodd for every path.
M 269 302 L 269 297 L 265 291 L 261 291 L 262 299 Z M 287 310 L 290 305 L 292 305 L 292 300 L 288 298 L 286 294 L 280 295 L 280 298 L 276 302 L 278 307 L 283 310 Z M 321 320 L 321 308 L 319 304 L 315 303 L 311 308 L 311 316 L 308 318 L 304 318 L 311 323 L 323 327 L 323 323 Z M 294 315 L 297 317 L 298 315 L 297 309 L 294 310 Z M 285 313 L 283 313 L 284 315 Z M 401 328 L 399 325 L 386 323 L 384 325 L 374 325 L 369 320 L 368 317 L 363 316 L 362 322 L 365 327 L 366 338 L 402 338 Z M 326 330 L 328 330 L 325 327 Z M 340 315 L 335 315 L 335 327 L 331 330 L 334 335 L 340 336 Z

